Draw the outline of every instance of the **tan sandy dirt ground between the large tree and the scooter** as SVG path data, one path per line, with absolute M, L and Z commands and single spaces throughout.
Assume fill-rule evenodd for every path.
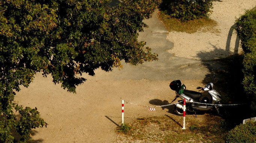
M 117 140 L 115 129 L 121 124 L 121 100 L 146 106 L 155 106 L 149 103 L 151 100 L 171 102 L 175 96 L 169 83 L 93 77 L 77 88 L 77 94 L 72 94 L 54 85 L 51 78 L 38 75 L 28 89 L 20 91 L 16 100 L 21 105 L 37 107 L 49 124 L 47 128 L 33 130 L 31 143 L 110 143 Z M 200 81 L 183 83 L 191 89 L 202 85 Z M 125 122 L 170 115 L 168 112 L 169 109 L 157 108 L 153 112 L 125 103 Z

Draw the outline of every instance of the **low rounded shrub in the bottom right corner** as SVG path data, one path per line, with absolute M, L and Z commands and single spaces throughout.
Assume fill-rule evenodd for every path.
M 230 130 L 226 143 L 256 143 L 256 122 L 240 124 Z

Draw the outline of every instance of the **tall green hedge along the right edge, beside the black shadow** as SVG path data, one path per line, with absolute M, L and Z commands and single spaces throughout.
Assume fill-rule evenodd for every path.
M 236 32 L 241 39 L 241 46 L 245 53 L 242 84 L 244 90 L 250 95 L 253 115 L 256 115 L 256 8 L 245 12 L 236 20 L 236 24 Z

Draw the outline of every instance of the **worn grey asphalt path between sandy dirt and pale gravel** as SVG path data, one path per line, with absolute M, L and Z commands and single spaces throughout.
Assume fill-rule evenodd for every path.
M 166 39 L 169 32 L 158 19 L 157 12 L 158 10 L 153 13 L 152 18 L 144 20 L 149 27 L 139 33 L 138 40 L 145 41 L 146 46 L 152 49 L 152 53 L 158 54 L 158 60 L 137 66 L 131 66 L 122 61 L 123 69 L 114 68 L 113 71 L 100 75 L 96 70 L 95 77 L 115 80 L 200 80 L 205 78 L 209 69 L 203 66 L 200 60 L 177 57 L 167 52 L 174 44 Z

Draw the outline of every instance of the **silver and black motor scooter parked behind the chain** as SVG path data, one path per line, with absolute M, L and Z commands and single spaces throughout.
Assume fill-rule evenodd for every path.
M 214 78 L 215 75 L 212 77 L 212 79 L 214 80 Z M 222 97 L 216 90 L 213 89 L 212 82 L 206 84 L 204 87 L 197 87 L 197 89 L 200 89 L 199 91 L 208 91 L 208 96 L 202 96 L 202 92 L 199 91 L 186 90 L 186 86 L 184 84 L 181 85 L 180 80 L 172 81 L 170 83 L 170 88 L 176 93 L 176 97 L 173 99 L 173 101 L 175 101 L 178 97 L 180 97 L 182 100 L 186 100 L 186 111 L 194 112 L 194 114 L 196 114 L 198 111 L 207 111 L 214 108 L 219 115 L 222 116 L 224 114 L 221 111 L 222 105 L 220 103 Z M 179 102 L 182 102 L 182 100 L 179 100 Z M 176 114 L 183 115 L 183 102 L 177 103 L 174 110 Z

